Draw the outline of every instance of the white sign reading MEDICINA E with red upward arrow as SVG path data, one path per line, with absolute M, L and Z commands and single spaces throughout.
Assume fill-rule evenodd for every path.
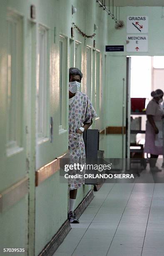
M 148 51 L 148 35 L 128 34 L 127 51 L 144 52 Z

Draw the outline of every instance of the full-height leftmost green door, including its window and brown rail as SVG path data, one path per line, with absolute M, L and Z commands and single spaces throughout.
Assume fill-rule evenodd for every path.
M 10 1 L 1 3 L 0 32 L 3 35 L 0 40 L 1 255 L 5 255 L 3 248 L 25 248 L 24 255 L 27 255 L 28 249 L 25 17 L 27 17 L 25 6 L 17 8 L 13 1 L 12 4 Z M 22 182 L 24 178 L 26 182 Z

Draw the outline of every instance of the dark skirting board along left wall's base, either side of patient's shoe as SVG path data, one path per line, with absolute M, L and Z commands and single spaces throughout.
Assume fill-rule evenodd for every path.
M 93 194 L 93 190 L 91 189 L 75 210 L 77 218 L 79 218 L 82 215 L 84 210 L 92 201 L 93 197 L 94 197 L 94 194 Z M 71 225 L 69 223 L 69 220 L 66 220 L 65 223 L 63 223 L 61 228 L 52 237 L 51 241 L 47 243 L 45 248 L 41 251 L 41 253 L 38 256 L 52 256 L 57 250 L 57 248 L 60 246 L 60 244 L 63 242 L 67 234 L 70 232 L 70 230 L 71 230 Z

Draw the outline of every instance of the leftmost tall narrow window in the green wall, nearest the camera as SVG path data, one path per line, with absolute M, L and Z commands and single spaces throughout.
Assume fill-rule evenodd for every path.
M 20 15 L 7 16 L 7 155 L 22 146 L 23 23 Z

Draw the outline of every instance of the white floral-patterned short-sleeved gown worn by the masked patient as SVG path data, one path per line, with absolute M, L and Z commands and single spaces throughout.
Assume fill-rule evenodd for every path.
M 84 123 L 90 123 L 96 117 L 96 112 L 88 96 L 82 92 L 76 92 L 75 96 L 69 99 L 69 142 L 70 159 L 76 163 L 82 163 L 85 159 L 85 147 L 83 133 L 76 133 Z M 76 174 L 74 170 L 73 173 Z M 69 189 L 77 189 L 84 184 L 84 179 L 68 179 Z

